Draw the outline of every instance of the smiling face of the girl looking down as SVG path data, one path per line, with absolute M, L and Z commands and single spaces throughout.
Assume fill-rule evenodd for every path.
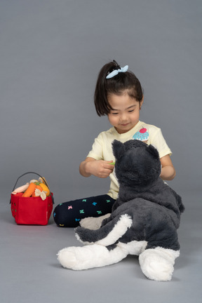
M 138 123 L 143 98 L 141 102 L 138 102 L 124 92 L 123 95 L 110 94 L 108 102 L 112 107 L 108 119 L 118 133 L 127 133 Z

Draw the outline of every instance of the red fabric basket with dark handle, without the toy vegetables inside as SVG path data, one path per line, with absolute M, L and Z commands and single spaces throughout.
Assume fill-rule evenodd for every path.
M 28 173 L 23 175 L 26 174 Z M 37 173 L 34 174 L 39 175 Z M 39 175 L 39 177 L 41 176 Z M 16 181 L 15 186 L 18 180 Z M 46 185 L 48 186 L 47 183 Z M 13 191 L 15 186 L 13 187 Z M 25 198 L 11 194 L 11 213 L 17 224 L 46 225 L 48 224 L 48 220 L 50 219 L 50 215 L 53 210 L 53 203 L 53 193 L 46 197 L 44 201 L 41 199 L 41 197 Z

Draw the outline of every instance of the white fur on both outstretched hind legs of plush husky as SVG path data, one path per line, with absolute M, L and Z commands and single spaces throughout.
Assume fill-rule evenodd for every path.
M 62 267 L 73 270 L 104 267 L 123 260 L 127 255 L 139 255 L 140 267 L 147 278 L 154 281 L 170 281 L 173 275 L 175 258 L 180 251 L 154 248 L 147 249 L 147 241 L 131 241 L 117 243 L 114 250 L 108 250 L 100 244 L 83 247 L 64 248 L 58 253 Z

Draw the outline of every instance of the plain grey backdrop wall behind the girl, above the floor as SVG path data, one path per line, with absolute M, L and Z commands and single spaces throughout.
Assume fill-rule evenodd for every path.
M 107 191 L 108 180 L 80 177 L 79 163 L 110 127 L 93 93 L 113 59 L 142 83 L 140 119 L 159 126 L 173 151 L 173 186 L 201 187 L 201 1 L 0 5 L 2 194 L 29 170 L 47 178 L 58 201 Z

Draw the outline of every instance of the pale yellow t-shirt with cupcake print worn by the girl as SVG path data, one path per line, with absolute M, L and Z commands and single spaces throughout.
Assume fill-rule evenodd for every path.
M 144 128 L 144 133 L 141 133 L 140 131 L 142 128 Z M 172 154 L 170 148 L 166 143 L 166 140 L 161 133 L 161 128 L 157 128 L 156 126 L 152 126 L 150 124 L 139 121 L 136 126 L 134 126 L 134 128 L 129 130 L 127 133 L 119 134 L 114 127 L 100 133 L 100 135 L 95 138 L 93 147 L 89 152 L 88 157 L 91 157 L 95 160 L 115 161 L 114 154 L 112 152 L 112 142 L 114 140 L 119 140 L 124 143 L 128 140 L 136 138 L 141 140 L 142 137 L 144 140 L 147 140 L 145 141 L 147 144 L 152 144 L 154 147 L 156 147 L 159 152 L 160 158 L 166 156 L 167 154 Z M 119 194 L 119 182 L 116 179 L 115 172 L 109 175 L 109 177 L 111 179 L 111 184 L 107 194 L 116 199 Z

